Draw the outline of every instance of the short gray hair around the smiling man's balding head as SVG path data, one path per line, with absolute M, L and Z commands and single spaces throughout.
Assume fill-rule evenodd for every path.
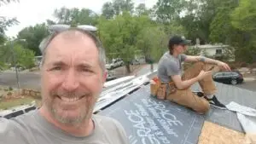
M 98 50 L 98 54 L 99 54 L 99 61 L 100 61 L 100 66 L 102 67 L 102 71 L 104 72 L 106 69 L 105 65 L 106 65 L 106 55 L 105 55 L 105 50 L 102 48 L 102 43 L 100 42 L 100 40 L 91 32 L 88 31 L 84 31 L 82 29 L 79 28 L 69 28 L 63 32 L 68 32 L 68 31 L 74 31 L 74 32 L 81 32 L 84 35 L 90 37 L 93 42 L 96 44 L 96 48 Z M 39 45 L 39 49 L 42 53 L 42 60 L 40 62 L 40 67 L 42 67 L 44 65 L 44 60 L 45 60 L 45 52 L 47 47 L 49 46 L 49 43 L 59 34 L 61 34 L 62 32 L 55 32 L 50 34 L 48 37 L 45 37 L 43 39 L 43 41 L 40 43 Z

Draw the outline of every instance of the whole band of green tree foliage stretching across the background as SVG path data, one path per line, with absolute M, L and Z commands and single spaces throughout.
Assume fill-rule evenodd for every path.
M 3 2 L 10 0 L 0 1 Z M 159 60 L 167 50 L 167 40 L 176 34 L 187 37 L 192 44 L 197 38 L 201 44 L 229 44 L 235 48 L 236 60 L 256 61 L 255 0 L 158 0 L 152 8 L 131 0 L 112 0 L 102 5 L 101 14 L 91 9 L 63 7 L 55 9 L 53 15 L 55 20 L 19 32 L 18 38 L 26 39 L 26 43 L 20 43 L 24 49 L 40 55 L 38 43 L 49 34 L 49 25 L 92 25 L 99 29 L 97 36 L 108 58 L 124 59 L 128 72 L 134 55 Z M 0 40 L 15 21 L 0 19 Z

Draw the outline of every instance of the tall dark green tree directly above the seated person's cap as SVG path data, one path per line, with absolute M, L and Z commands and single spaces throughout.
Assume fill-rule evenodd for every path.
M 201 44 L 209 43 L 210 24 L 216 14 L 219 0 L 190 0 L 183 2 L 183 17 L 178 20 L 188 32 L 187 37 L 195 44 L 200 38 Z

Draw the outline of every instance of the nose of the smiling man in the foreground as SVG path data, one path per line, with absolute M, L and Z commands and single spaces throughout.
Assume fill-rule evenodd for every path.
M 62 87 L 68 91 L 73 91 L 79 87 L 79 78 L 74 70 L 67 72 Z

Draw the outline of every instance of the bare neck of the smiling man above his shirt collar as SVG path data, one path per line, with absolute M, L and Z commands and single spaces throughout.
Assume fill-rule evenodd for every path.
M 94 123 L 92 119 L 85 119 L 81 124 L 61 124 L 58 120 L 53 118 L 46 107 L 41 107 L 39 113 L 51 124 L 54 124 L 58 129 L 64 130 L 70 135 L 74 136 L 88 136 L 94 130 Z

